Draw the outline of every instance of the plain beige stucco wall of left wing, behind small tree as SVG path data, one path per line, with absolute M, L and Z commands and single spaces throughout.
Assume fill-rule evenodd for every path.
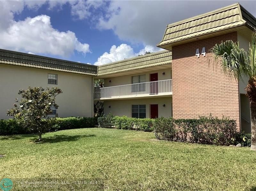
M 58 85 L 48 84 L 48 73 L 58 74 Z M 18 90 L 28 86 L 62 89 L 56 97 L 59 117 L 92 117 L 92 76 L 0 64 L 0 119 L 10 118 L 6 111 L 20 98 Z

